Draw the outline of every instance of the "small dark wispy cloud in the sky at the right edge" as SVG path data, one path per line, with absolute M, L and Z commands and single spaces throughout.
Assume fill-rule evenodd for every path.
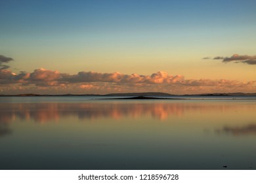
M 234 61 L 235 63 L 247 63 L 249 65 L 256 65 L 256 56 L 247 56 L 247 55 L 240 56 L 238 54 L 234 54 L 230 57 L 217 56 L 213 59 L 222 59 L 224 63 Z

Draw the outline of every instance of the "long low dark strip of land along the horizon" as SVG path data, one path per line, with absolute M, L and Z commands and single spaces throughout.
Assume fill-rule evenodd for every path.
M 118 97 L 118 96 L 129 96 L 129 97 L 138 97 L 138 96 L 144 96 L 144 97 L 149 97 L 149 96 L 256 96 L 256 93 L 200 93 L 200 94 L 186 94 L 186 95 L 173 95 L 170 93 L 161 93 L 161 92 L 143 92 L 143 93 L 109 93 L 106 95 L 99 95 L 99 94 L 72 94 L 72 93 L 67 93 L 67 94 L 60 94 L 60 95 L 51 95 L 51 94 L 35 94 L 35 93 L 22 93 L 18 95 L 1 95 L 0 97 L 47 97 L 47 96 L 54 96 L 54 97 L 64 97 L 64 96 L 106 96 L 106 97 Z

